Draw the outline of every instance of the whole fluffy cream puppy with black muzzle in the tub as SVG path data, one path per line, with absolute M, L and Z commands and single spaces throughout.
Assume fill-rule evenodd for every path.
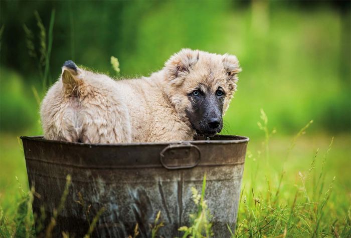
M 236 90 L 232 55 L 183 49 L 160 71 L 114 81 L 65 62 L 41 106 L 47 139 L 84 143 L 192 140 L 222 130 Z

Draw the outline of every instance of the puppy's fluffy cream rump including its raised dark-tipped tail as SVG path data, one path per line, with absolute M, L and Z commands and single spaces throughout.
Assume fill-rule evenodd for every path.
M 130 142 L 129 114 L 105 75 L 79 69 L 72 61 L 48 91 L 41 106 L 47 139 L 86 143 Z

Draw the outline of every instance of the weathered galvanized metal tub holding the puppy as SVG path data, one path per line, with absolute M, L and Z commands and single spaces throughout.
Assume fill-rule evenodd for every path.
M 179 143 L 84 144 L 21 137 L 30 186 L 36 193 L 33 211 L 45 210 L 48 225 L 66 185 L 72 181 L 53 237 L 62 231 L 82 237 L 89 222 L 104 207 L 93 237 L 127 237 L 139 225 L 137 237 L 150 237 L 158 211 L 164 226 L 158 235 L 181 236 L 196 205 L 191 187 L 206 195 L 215 237 L 229 237 L 235 228 L 245 153 L 249 138 L 217 135 L 210 140 Z M 81 198 L 86 208 L 83 208 Z M 44 208 L 44 209 L 43 209 Z M 38 228 L 38 220 L 36 226 Z M 37 235 L 43 235 L 37 233 Z

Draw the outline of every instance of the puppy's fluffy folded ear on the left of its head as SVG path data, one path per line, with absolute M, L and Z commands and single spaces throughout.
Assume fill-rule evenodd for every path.
M 166 75 L 168 80 L 180 79 L 183 82 L 184 76 L 189 74 L 193 66 L 199 60 L 199 51 L 182 49 L 174 54 L 165 63 Z

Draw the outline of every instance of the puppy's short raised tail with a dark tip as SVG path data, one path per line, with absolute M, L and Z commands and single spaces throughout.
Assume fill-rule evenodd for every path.
M 83 85 L 82 71 L 71 61 L 66 61 L 62 66 L 62 83 L 65 96 L 81 96 Z

